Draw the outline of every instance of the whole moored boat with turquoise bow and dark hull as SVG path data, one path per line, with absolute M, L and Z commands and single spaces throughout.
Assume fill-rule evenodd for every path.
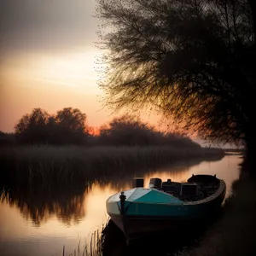
M 186 183 L 160 178 L 135 178 L 132 189 L 120 191 L 106 201 L 109 217 L 126 241 L 166 230 L 180 230 L 197 224 L 221 207 L 226 193 L 224 180 L 216 175 L 192 175 Z

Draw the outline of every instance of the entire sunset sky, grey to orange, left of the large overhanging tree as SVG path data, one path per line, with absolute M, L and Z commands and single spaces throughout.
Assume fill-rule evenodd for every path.
M 1 0 L 0 131 L 14 131 L 32 108 L 79 108 L 90 126 L 112 119 L 97 86 L 95 6 L 95 0 Z M 155 115 L 143 117 L 157 124 Z

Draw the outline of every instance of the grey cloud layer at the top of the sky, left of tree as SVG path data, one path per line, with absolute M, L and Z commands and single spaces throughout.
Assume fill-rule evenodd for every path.
M 94 10 L 95 0 L 1 0 L 1 55 L 93 46 Z

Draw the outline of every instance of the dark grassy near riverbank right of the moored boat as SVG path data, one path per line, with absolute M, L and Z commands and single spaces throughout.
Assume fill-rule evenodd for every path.
M 223 216 L 193 247 L 177 256 L 254 256 L 256 255 L 256 182 L 241 166 L 241 176 L 233 184 L 233 194 L 225 202 Z

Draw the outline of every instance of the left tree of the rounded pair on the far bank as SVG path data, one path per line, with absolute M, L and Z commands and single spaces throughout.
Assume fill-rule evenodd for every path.
M 26 113 L 15 125 L 15 137 L 19 143 L 41 144 L 47 140 L 49 113 L 41 108 L 34 108 Z

